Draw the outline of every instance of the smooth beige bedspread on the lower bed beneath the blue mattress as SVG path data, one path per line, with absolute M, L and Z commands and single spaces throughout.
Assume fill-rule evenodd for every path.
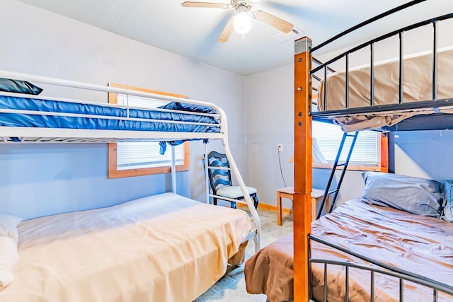
M 173 193 L 23 221 L 0 301 L 193 301 L 250 227 L 245 211 Z

